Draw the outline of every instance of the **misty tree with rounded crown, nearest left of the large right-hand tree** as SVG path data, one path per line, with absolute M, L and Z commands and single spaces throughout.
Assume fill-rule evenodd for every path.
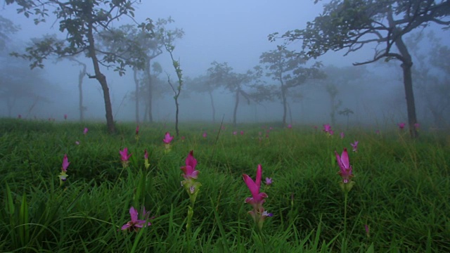
M 283 103 L 283 126 L 286 125 L 288 112 L 288 90 L 304 84 L 309 79 L 325 77 L 319 70 L 320 63 L 315 63 L 312 67 L 302 67 L 307 60 L 295 51 L 288 50 L 285 46 L 277 46 L 276 50 L 264 52 L 259 56 L 259 63 L 266 65 L 266 70 L 269 71 L 266 76 L 278 82 L 277 96 Z

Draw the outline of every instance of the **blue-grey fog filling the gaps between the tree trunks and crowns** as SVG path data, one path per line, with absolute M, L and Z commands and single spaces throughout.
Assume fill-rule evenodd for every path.
M 228 63 L 233 72 L 245 73 L 259 63 L 259 56 L 263 52 L 275 50 L 276 46 L 283 41 L 270 42 L 268 35 L 273 32 L 283 34 L 288 30 L 303 29 L 308 21 L 322 12 L 323 2 L 314 4 L 314 1 L 150 1 L 136 5 L 135 20 L 144 22 L 146 18 L 158 20 L 158 18 L 173 18 L 174 22 L 170 28 L 184 30 L 184 37 L 176 39 L 174 45 L 174 57 L 179 60 L 185 84 L 180 95 L 180 120 L 190 121 L 212 121 L 212 106 L 210 95 L 207 92 L 195 91 L 192 88 L 195 77 L 207 74 L 211 63 Z M 56 119 L 63 121 L 63 115 L 68 115 L 68 120 L 79 119 L 79 90 L 78 76 L 81 65 L 78 63 L 52 58 L 49 56 L 44 60 L 44 68 L 30 70 L 27 60 L 8 56 L 11 51 L 23 53 L 30 40 L 39 38 L 46 34 L 56 34 L 60 39 L 65 34 L 59 32 L 59 21 L 51 15 L 46 22 L 34 25 L 33 18 L 26 18 L 22 13 L 17 13 L 15 5 L 2 5 L 0 16 L 11 20 L 20 30 L 8 35 L 6 46 L 1 50 L 1 69 L 6 76 L 4 84 L 0 87 L 2 92 L 0 107 L 1 117 L 18 117 L 21 115 L 27 119 Z M 120 25 L 135 25 L 127 17 L 113 22 L 112 27 Z M 0 31 L 1 32 L 1 31 Z M 420 32 L 420 31 L 418 31 Z M 416 43 L 413 38 L 418 37 L 418 32 L 409 35 L 410 44 Z M 430 44 L 429 32 L 435 32 L 434 38 L 442 46 L 449 46 L 449 31 L 442 32 L 441 27 L 430 25 L 420 34 L 420 41 L 411 48 L 414 67 L 420 67 L 416 63 L 418 59 L 428 59 L 430 49 L 436 44 Z M 416 40 L 417 41 L 417 40 Z M 407 42 L 408 43 L 408 42 Z M 288 48 L 301 50 L 301 43 L 288 44 Z M 333 108 L 327 84 L 334 86 L 335 95 L 335 123 L 346 125 L 364 124 L 375 127 L 386 127 L 406 122 L 406 102 L 402 72 L 400 63 L 392 60 L 385 63 L 371 63 L 364 66 L 353 66 L 352 63 L 364 62 L 373 58 L 373 46 L 365 46 L 359 51 L 344 56 L 345 51 L 329 52 L 316 60 L 309 60 L 305 66 L 309 67 L 316 61 L 323 65 L 321 69 L 327 73 L 328 79 L 313 79 L 305 84 L 290 89 L 288 94 L 288 117 L 287 122 L 293 124 L 326 124 L 330 123 L 330 112 Z M 426 56 L 426 57 L 425 57 Z M 92 62 L 89 58 L 79 56 L 77 60 L 87 65 L 87 73 L 93 74 Z M 446 56 L 449 61 L 449 57 Z M 162 66 L 162 73 L 158 75 L 161 80 L 162 93 L 153 98 L 153 120 L 156 122 L 173 122 L 175 119 L 174 93 L 167 84 L 167 74 L 172 82 L 176 82 L 176 73 L 172 61 L 167 52 L 152 60 Z M 436 67 L 428 66 L 430 76 L 437 78 L 439 82 L 446 85 L 433 88 L 436 80 L 419 79 L 413 77 L 414 92 L 416 98 L 416 112 L 420 123 L 435 126 L 437 120 L 430 110 L 432 101 L 441 101 L 439 105 L 444 112 L 440 115 L 439 126 L 448 126 L 450 119 L 450 72 L 443 72 Z M 16 68 L 15 68 L 16 66 Z M 19 67 L 17 67 L 19 66 Z M 15 70 L 14 70 L 15 69 Z M 18 69 L 18 70 L 17 70 Z M 263 67 L 264 69 L 264 67 Z M 117 122 L 134 122 L 135 102 L 132 99 L 134 92 L 133 70 L 127 67 L 127 72 L 120 75 L 113 68 L 102 67 L 102 72 L 108 80 L 110 98 L 113 107 L 114 119 Z M 18 72 L 15 72 L 18 71 Z M 359 77 L 346 78 L 347 74 L 361 72 Z M 418 73 L 423 72 L 416 69 Z M 27 77 L 19 83 L 14 83 L 14 76 Z M 266 85 L 276 84 L 270 77 L 262 76 Z M 432 84 L 428 84 L 432 82 Z M 17 89 L 6 89 L 9 85 Z M 27 83 L 24 83 L 27 82 Z M 18 88 L 20 86 L 20 89 Z M 430 88 L 425 92 L 424 86 Z M 334 89 L 334 88 L 333 88 Z M 437 92 L 433 93 L 433 89 Z M 26 90 L 27 92 L 24 92 Z M 251 92 L 251 87 L 245 87 L 245 91 Z M 86 111 L 84 119 L 105 121 L 105 106 L 103 92 L 96 79 L 83 79 L 83 100 Z M 14 94 L 14 95 L 11 95 Z M 446 96 L 446 94 L 448 96 Z M 426 96 L 425 96 L 426 95 Z M 222 117 L 226 123 L 232 122 L 235 96 L 224 87 L 212 91 L 214 99 L 215 119 L 219 122 Z M 437 106 L 437 105 L 436 105 Z M 140 120 L 145 119 L 145 106 L 140 104 Z M 343 115 L 342 110 L 348 108 L 352 114 L 348 117 Z M 440 109 L 439 109 L 440 110 Z M 237 122 L 281 122 L 283 117 L 283 104 L 279 98 L 271 101 L 240 99 L 238 105 Z

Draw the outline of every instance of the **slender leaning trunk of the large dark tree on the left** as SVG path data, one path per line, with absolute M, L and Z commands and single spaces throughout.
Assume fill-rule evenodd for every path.
M 94 35 L 92 34 L 92 24 L 88 26 L 87 39 L 89 42 L 88 50 L 89 57 L 92 59 L 92 64 L 94 65 L 94 76 L 90 78 L 95 78 L 101 85 L 103 90 L 103 100 L 105 100 L 105 116 L 106 116 L 106 126 L 110 134 L 115 133 L 115 124 L 113 118 L 113 108 L 111 107 L 110 90 L 108 88 L 108 82 L 106 82 L 106 77 L 100 72 L 100 67 L 98 65 L 98 59 L 95 51 Z

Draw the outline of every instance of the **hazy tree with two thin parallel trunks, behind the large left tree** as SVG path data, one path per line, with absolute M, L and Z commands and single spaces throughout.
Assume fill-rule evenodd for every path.
M 107 48 L 108 52 L 115 52 L 121 58 L 126 58 L 131 63 L 134 76 L 137 78 L 137 72 L 143 70 L 143 82 L 146 82 L 147 96 L 143 97 L 147 100 L 146 111 L 148 112 L 149 122 L 153 122 L 153 78 L 151 77 L 152 60 L 160 56 L 165 48 L 165 44 L 173 44 L 176 39 L 181 39 L 184 32 L 175 28 L 169 30 L 167 26 L 171 25 L 174 20 L 172 18 L 158 19 L 156 22 L 147 19 L 138 29 L 131 25 L 122 25 L 117 29 L 109 29 L 103 31 L 99 39 Z M 165 34 L 171 34 L 170 37 Z M 171 41 L 165 41 L 170 39 Z M 139 53 L 136 53 L 139 52 Z M 135 81 L 137 80 L 135 78 Z M 139 93 L 139 84 L 135 82 L 136 93 Z M 136 97 L 136 122 L 139 122 L 139 96 Z

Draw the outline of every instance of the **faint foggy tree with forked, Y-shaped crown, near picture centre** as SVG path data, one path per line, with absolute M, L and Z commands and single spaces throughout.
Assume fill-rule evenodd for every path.
M 236 115 L 238 113 L 239 98 L 243 97 L 250 104 L 252 98 L 249 93 L 245 91 L 245 86 L 255 85 L 259 82 L 262 76 L 262 68 L 259 66 L 248 70 L 245 74 L 233 72 L 233 68 L 229 67 L 228 63 L 211 63 L 212 67 L 208 69 L 210 79 L 214 82 L 219 82 L 224 85 L 232 93 L 235 93 L 235 103 L 233 110 L 233 126 L 236 126 Z

